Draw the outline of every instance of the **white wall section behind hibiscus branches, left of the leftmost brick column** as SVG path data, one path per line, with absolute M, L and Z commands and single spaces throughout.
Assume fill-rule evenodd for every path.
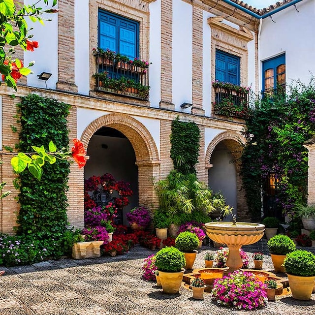
M 24 3 L 33 4 L 33 0 L 24 0 Z M 44 4 L 41 0 L 36 6 L 42 8 L 50 8 Z M 58 8 L 55 6 L 54 8 Z M 39 47 L 34 49 L 33 52 L 24 52 L 24 63 L 28 65 L 31 61 L 35 60 L 35 64 L 32 66 L 32 74 L 27 77 L 29 86 L 45 88 L 45 82 L 38 80 L 37 75 L 44 72 L 52 73 L 53 75 L 47 81 L 47 89 L 56 89 L 56 83 L 58 81 L 58 13 L 55 14 L 43 14 L 43 19 L 52 19 L 52 21 L 44 21 L 44 26 L 39 22 L 32 23 L 29 19 L 28 27 L 33 28 L 30 32 L 34 36 L 31 40 L 38 41 Z

